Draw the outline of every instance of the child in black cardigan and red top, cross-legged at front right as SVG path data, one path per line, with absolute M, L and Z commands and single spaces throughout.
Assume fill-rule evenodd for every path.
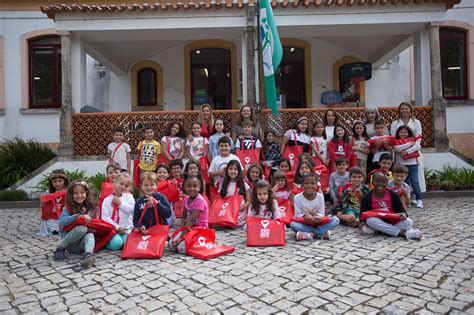
M 401 221 L 390 224 L 376 217 L 371 217 L 366 222 L 361 222 L 359 229 L 362 235 L 373 234 L 374 230 L 390 236 L 405 236 L 410 239 L 421 239 L 420 230 L 413 229 L 413 221 L 408 218 L 402 201 L 396 193 L 387 189 L 388 178 L 382 173 L 374 174 L 374 188 L 362 198 L 361 214 L 365 211 L 375 210 L 398 213 Z

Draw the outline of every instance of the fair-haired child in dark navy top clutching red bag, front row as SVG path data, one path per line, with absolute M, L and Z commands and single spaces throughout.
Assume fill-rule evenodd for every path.
M 133 226 L 137 228 L 143 235 L 148 233 L 148 229 L 157 224 L 171 225 L 172 212 L 170 204 L 166 197 L 156 192 L 157 175 L 151 172 L 144 172 L 140 175 L 140 189 L 143 196 L 135 202 L 133 210 Z M 155 218 L 154 205 L 158 210 L 158 218 Z M 145 212 L 143 219 L 140 221 L 142 213 Z

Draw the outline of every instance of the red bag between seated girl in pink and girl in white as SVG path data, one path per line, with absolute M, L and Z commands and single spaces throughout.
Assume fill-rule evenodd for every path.
M 229 197 L 216 199 L 209 210 L 209 225 L 211 226 L 235 226 L 239 216 L 240 204 L 244 199 L 238 194 L 239 189 Z

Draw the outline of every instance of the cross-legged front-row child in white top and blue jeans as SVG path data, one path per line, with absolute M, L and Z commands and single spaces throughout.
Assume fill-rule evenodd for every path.
M 329 239 L 332 228 L 339 224 L 339 219 L 332 217 L 324 225 L 314 227 L 325 215 L 324 197 L 317 193 L 319 178 L 314 173 L 306 174 L 303 178 L 304 191 L 295 196 L 295 218 L 304 218 L 305 223 L 291 222 L 290 228 L 296 232 L 296 240 L 310 240 L 315 237 Z

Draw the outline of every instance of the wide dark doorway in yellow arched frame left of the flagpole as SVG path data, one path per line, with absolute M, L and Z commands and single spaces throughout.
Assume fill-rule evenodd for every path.
M 221 48 L 191 51 L 192 109 L 209 103 L 214 109 L 232 108 L 231 52 Z

